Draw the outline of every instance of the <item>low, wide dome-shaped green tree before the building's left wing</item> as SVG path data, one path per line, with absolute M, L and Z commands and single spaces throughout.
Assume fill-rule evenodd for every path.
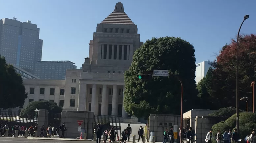
M 21 110 L 21 115 L 29 115 L 29 113 L 34 113 L 35 109 L 45 109 L 48 110 L 49 113 L 61 113 L 62 108 L 57 105 L 55 102 L 51 101 L 33 101 L 29 102 L 28 105 Z

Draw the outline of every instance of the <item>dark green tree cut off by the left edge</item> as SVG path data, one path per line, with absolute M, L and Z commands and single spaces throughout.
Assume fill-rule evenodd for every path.
M 21 76 L 0 56 L 0 108 L 22 108 L 27 97 Z

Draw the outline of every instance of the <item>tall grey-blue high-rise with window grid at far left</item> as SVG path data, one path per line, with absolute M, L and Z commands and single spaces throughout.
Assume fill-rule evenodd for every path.
M 42 59 L 43 40 L 40 29 L 31 21 L 20 22 L 16 18 L 0 20 L 0 54 L 7 63 L 34 73 L 35 64 Z

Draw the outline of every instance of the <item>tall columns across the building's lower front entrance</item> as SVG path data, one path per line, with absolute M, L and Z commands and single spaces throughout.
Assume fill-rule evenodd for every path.
M 78 107 L 77 111 L 85 111 L 86 108 L 86 84 L 80 83 L 79 85 L 79 97 L 78 97 Z M 117 85 L 113 85 L 113 94 L 112 94 L 112 116 L 118 116 L 118 92 Z M 92 87 L 92 101 L 91 101 L 91 111 L 97 113 L 97 107 L 99 98 L 97 98 L 97 87 L 96 84 L 93 84 Z M 123 94 L 123 105 L 124 105 L 124 94 Z M 107 96 L 107 85 L 102 87 L 102 100 L 101 100 L 101 115 L 108 115 L 108 96 Z M 128 117 L 124 106 L 122 108 L 122 117 Z

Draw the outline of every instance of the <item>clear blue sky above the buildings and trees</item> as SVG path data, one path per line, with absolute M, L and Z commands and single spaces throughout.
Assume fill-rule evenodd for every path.
M 96 26 L 118 0 L 0 0 L 0 19 L 31 20 L 40 28 L 42 60 L 69 60 L 81 67 L 89 56 Z M 140 41 L 181 37 L 195 47 L 196 63 L 214 60 L 235 38 L 243 16 L 250 15 L 241 34 L 256 33 L 255 0 L 122 0 L 138 25 Z

